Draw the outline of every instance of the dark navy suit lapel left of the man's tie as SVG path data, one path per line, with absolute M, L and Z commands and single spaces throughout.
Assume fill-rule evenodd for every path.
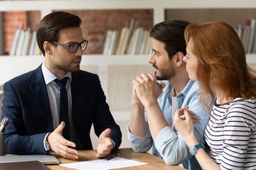
M 34 70 L 34 74 L 31 78 L 30 88 L 34 95 L 34 99 L 39 106 L 40 114 L 42 115 L 43 122 L 47 132 L 53 131 L 51 107 L 49 104 L 49 97 L 45 85 L 45 79 L 43 78 L 41 65 Z

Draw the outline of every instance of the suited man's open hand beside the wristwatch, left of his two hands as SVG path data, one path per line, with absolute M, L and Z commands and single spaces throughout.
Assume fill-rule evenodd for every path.
M 75 147 L 75 143 L 67 141 L 62 136 L 62 130 L 65 127 L 64 121 L 50 133 L 47 137 L 47 141 L 51 145 L 51 150 L 55 153 L 60 154 L 64 158 L 68 159 L 78 159 L 78 152 L 69 147 Z

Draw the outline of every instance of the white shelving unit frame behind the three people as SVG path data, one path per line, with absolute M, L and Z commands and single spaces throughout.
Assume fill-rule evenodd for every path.
M 164 20 L 166 9 L 255 8 L 255 0 L 60 0 L 60 1 L 0 1 L 0 11 L 41 11 L 41 17 L 54 10 L 152 9 L 154 24 Z M 98 65 L 102 87 L 107 94 L 107 65 L 147 64 L 149 55 L 86 55 L 81 64 Z M 249 64 L 256 64 L 256 54 L 247 55 Z M 0 56 L 1 85 L 43 61 L 42 56 Z M 33 66 L 32 66 L 33 65 Z M 14 69 L 15 68 L 15 69 Z M 3 74 L 4 73 L 4 74 Z M 106 95 L 107 96 L 107 95 Z

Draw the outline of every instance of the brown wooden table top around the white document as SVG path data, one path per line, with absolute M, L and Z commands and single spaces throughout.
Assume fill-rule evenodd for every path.
M 60 163 L 73 163 L 73 162 L 81 162 L 86 160 L 95 160 L 96 159 L 96 150 L 87 150 L 87 151 L 78 151 L 79 159 L 78 160 L 70 160 L 70 159 L 64 159 L 57 154 L 54 154 L 54 156 L 57 157 L 58 160 L 60 160 Z M 122 148 L 114 151 L 113 154 L 119 153 L 122 158 L 125 159 L 132 159 L 137 160 L 140 162 L 149 163 L 148 165 L 141 165 L 141 166 L 131 166 L 127 168 L 120 168 L 120 169 L 168 169 L 168 170 L 184 170 L 184 168 L 181 168 L 180 166 L 169 166 L 164 163 L 163 159 L 160 159 L 159 157 L 153 156 L 149 153 L 135 153 L 131 148 Z M 70 169 L 66 168 L 61 165 L 48 165 L 49 168 L 54 170 L 59 169 Z

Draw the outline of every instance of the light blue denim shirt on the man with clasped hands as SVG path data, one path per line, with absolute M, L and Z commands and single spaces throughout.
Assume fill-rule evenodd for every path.
M 180 133 L 172 127 L 172 99 L 170 93 L 172 87 L 169 81 L 158 81 L 159 83 L 166 83 L 166 87 L 163 89 L 163 93 L 158 98 L 158 104 L 164 117 L 170 126 L 164 127 L 157 134 L 155 141 L 151 137 L 151 133 L 148 127 L 148 132 L 145 137 L 134 136 L 128 129 L 128 139 L 131 141 L 133 150 L 138 153 L 146 152 L 153 146 L 153 154 L 161 157 L 167 163 L 167 165 L 179 165 L 186 169 L 201 169 L 201 166 L 192 156 L 189 151 L 189 147 L 186 145 L 185 139 Z M 200 88 L 199 82 L 189 80 L 186 87 L 176 96 L 178 102 L 178 108 L 184 108 L 189 106 L 189 109 L 193 111 L 201 119 L 198 123 L 194 123 L 195 136 L 200 144 L 205 144 L 204 130 L 207 126 L 209 115 L 205 111 L 204 106 L 200 101 Z M 146 118 L 146 112 L 145 112 Z M 147 125 L 148 122 L 146 121 Z

